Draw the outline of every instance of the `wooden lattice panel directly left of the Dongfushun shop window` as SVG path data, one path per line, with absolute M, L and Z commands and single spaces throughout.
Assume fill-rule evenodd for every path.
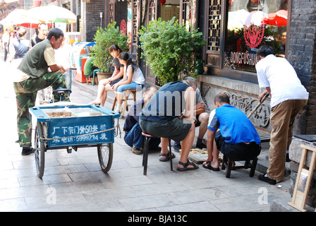
M 221 0 L 209 0 L 207 50 L 219 51 Z

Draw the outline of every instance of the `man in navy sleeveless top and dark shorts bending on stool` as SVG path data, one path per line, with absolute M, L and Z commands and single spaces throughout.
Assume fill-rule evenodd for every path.
M 196 82 L 184 79 L 166 83 L 142 108 L 140 127 L 145 133 L 159 136 L 162 141 L 160 161 L 169 160 L 169 138 L 182 142 L 178 171 L 197 169 L 198 165 L 188 160 L 195 133 L 194 100 Z M 171 154 L 171 157 L 175 157 Z

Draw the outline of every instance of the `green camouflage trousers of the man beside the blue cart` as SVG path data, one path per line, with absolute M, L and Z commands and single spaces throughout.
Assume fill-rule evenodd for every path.
M 29 108 L 34 107 L 38 90 L 49 87 L 53 90 L 57 88 L 66 88 L 63 73 L 60 71 L 49 72 L 41 78 L 28 78 L 20 83 L 13 83 L 16 91 L 16 105 L 18 108 L 18 141 L 21 147 L 30 147 L 32 145 L 32 121 Z M 69 100 L 66 95 L 63 100 Z M 59 101 L 59 96 L 54 95 L 54 102 Z

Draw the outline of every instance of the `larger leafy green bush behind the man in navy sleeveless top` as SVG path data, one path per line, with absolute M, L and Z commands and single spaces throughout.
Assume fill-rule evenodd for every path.
M 142 57 L 158 78 L 159 85 L 177 81 L 180 76 L 195 76 L 195 54 L 205 44 L 202 32 L 188 32 L 172 18 L 152 20 L 138 32 Z

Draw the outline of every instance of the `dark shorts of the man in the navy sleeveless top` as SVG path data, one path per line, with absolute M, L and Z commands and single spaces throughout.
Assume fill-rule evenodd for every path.
M 180 142 L 186 138 L 192 126 L 192 123 L 185 120 L 174 118 L 167 123 L 162 123 L 140 119 L 140 127 L 145 133 L 163 138 L 171 138 L 171 140 Z

